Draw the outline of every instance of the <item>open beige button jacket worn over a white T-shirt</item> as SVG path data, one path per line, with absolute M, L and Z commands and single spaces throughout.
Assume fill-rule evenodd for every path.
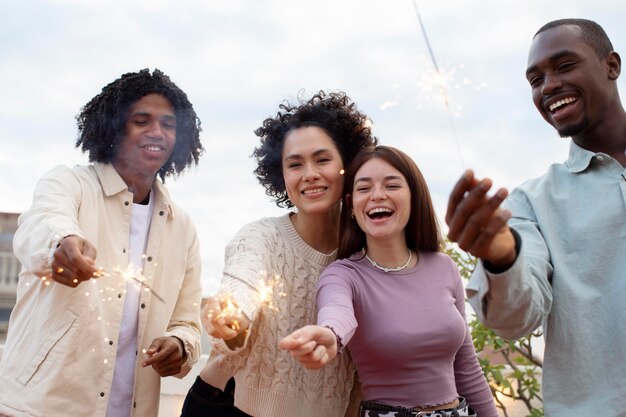
M 161 297 L 142 291 L 132 415 L 157 416 L 160 377 L 140 362 L 152 340 L 184 341 L 189 372 L 200 353 L 200 256 L 189 217 L 155 182 L 144 275 Z M 57 167 L 37 184 L 19 219 L 14 252 L 22 263 L 17 304 L 0 362 L 0 414 L 104 416 L 113 377 L 125 281 L 119 274 L 70 288 L 41 277 L 59 238 L 92 242 L 96 264 L 126 268 L 132 194 L 112 165 Z

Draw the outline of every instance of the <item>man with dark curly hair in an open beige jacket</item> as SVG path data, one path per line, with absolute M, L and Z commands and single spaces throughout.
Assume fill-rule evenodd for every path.
M 147 69 L 77 120 L 91 164 L 47 173 L 15 234 L 0 415 L 156 416 L 160 377 L 184 376 L 200 353 L 196 231 L 162 184 L 197 164 L 200 122 Z

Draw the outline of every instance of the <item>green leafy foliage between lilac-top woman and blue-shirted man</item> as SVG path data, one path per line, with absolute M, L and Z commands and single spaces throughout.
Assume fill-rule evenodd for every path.
M 463 279 L 468 280 L 476 267 L 476 258 L 450 242 L 446 242 L 444 252 L 456 262 Z M 503 400 L 510 398 L 524 403 L 527 417 L 542 417 L 540 378 L 543 363 L 533 352 L 532 343 L 533 339 L 542 337 L 542 331 L 509 341 L 475 318 L 470 317 L 469 326 L 478 361 L 502 414 L 509 416 Z

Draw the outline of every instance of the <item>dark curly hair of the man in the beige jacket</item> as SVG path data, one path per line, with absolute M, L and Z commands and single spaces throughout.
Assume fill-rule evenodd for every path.
M 109 163 L 126 134 L 130 107 L 148 94 L 165 97 L 176 114 L 176 144 L 170 158 L 158 172 L 161 180 L 180 174 L 198 159 L 204 148 L 200 143 L 200 120 L 187 95 L 158 69 L 129 72 L 105 86 L 76 116 L 76 147 L 89 152 L 90 162 Z

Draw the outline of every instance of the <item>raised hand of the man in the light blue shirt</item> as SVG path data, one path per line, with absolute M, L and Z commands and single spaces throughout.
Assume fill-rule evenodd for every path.
M 450 240 L 473 256 L 499 269 L 515 262 L 515 238 L 507 226 L 511 212 L 500 207 L 508 195 L 500 188 L 488 196 L 492 182 L 466 171 L 450 193 L 446 223 Z

